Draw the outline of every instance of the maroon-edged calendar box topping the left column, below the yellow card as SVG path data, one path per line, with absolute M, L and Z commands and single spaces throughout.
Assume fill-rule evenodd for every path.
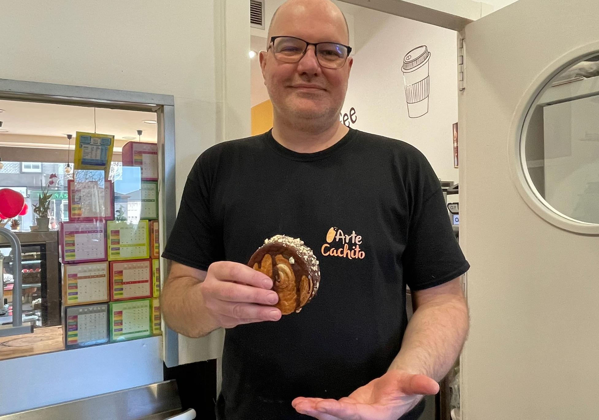
M 114 219 L 114 185 L 111 181 L 68 180 L 69 220 Z

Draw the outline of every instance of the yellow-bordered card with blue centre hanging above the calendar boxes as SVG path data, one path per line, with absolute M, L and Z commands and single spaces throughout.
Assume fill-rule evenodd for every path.
M 77 131 L 73 162 L 75 170 L 104 170 L 105 177 L 108 177 L 113 149 L 114 135 Z

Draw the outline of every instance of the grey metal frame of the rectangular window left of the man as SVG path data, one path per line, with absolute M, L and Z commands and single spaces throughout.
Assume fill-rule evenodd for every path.
M 166 238 L 173 229 L 177 214 L 175 101 L 173 95 L 0 78 L 0 99 L 155 112 L 159 168 L 162 168 L 161 172 L 164 173 L 164 177 L 159 182 L 160 243 L 161 246 L 164 246 Z M 165 268 L 165 264 L 161 264 L 162 279 L 165 279 L 167 272 Z M 163 324 L 162 331 L 164 334 L 162 342 L 164 362 L 168 367 L 178 365 L 179 338 L 177 333 L 165 324 Z

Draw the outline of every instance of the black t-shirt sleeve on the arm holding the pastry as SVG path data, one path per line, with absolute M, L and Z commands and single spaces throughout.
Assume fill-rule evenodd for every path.
M 167 240 L 163 258 L 208 270 L 223 259 L 222 234 L 210 209 L 210 162 L 202 154 L 187 176 L 179 213 Z

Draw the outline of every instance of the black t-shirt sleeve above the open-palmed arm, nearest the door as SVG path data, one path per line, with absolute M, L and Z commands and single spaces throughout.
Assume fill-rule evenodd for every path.
M 411 290 L 428 289 L 461 276 L 470 264 L 453 233 L 443 190 L 422 156 L 413 183 L 413 204 L 402 261 L 404 279 Z

